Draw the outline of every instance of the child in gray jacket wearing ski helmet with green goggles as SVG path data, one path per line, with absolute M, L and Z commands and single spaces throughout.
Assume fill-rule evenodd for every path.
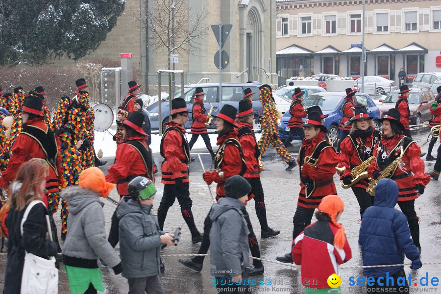
M 117 216 L 122 274 L 128 280 L 128 294 L 163 294 L 159 252 L 161 244 L 173 245 L 173 236 L 160 231 L 157 219 L 150 215 L 156 189 L 149 179 L 134 178 L 127 191 L 132 198 L 120 202 Z

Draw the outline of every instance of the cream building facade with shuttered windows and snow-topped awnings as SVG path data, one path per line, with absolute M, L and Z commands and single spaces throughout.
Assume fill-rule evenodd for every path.
M 279 85 L 317 73 L 360 77 L 362 0 L 277 0 Z M 366 0 L 365 75 L 441 72 L 441 0 Z

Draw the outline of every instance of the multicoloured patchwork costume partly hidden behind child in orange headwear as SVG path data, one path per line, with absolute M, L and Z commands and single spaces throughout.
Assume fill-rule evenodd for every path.
M 82 171 L 81 153 L 73 145 L 74 133 L 70 128 L 55 130 L 59 142 L 58 152 L 61 155 L 61 167 L 63 174 L 60 177 L 60 190 L 68 186 L 78 185 L 78 176 Z M 58 202 L 56 203 L 58 205 Z M 57 207 L 58 208 L 58 207 Z M 56 210 L 56 209 L 55 209 Z M 67 219 L 69 206 L 65 198 L 61 198 L 61 234 L 67 232 Z

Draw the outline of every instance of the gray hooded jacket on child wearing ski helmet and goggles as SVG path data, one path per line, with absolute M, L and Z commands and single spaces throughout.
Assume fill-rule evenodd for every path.
M 121 201 L 118 205 L 123 277 L 142 278 L 159 274 L 159 236 L 164 232 L 159 230 L 157 219 L 150 214 L 151 207 L 132 199 Z

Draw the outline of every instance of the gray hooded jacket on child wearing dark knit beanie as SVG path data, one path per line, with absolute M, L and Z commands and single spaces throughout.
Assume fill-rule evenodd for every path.
M 242 274 L 249 266 L 248 226 L 237 199 L 223 197 L 213 204 L 210 219 L 211 274 L 229 278 Z

